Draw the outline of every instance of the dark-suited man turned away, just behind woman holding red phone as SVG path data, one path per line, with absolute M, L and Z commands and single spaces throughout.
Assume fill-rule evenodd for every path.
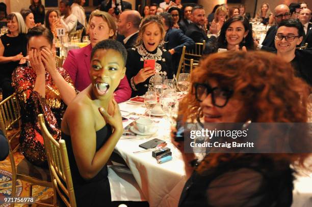
M 192 49 L 195 42 L 186 36 L 181 29 L 172 28 L 173 20 L 169 13 L 163 12 L 159 15 L 163 18 L 166 31 L 164 48 L 172 55 L 172 66 L 174 73 L 176 73 L 183 47 L 186 46 L 187 49 Z

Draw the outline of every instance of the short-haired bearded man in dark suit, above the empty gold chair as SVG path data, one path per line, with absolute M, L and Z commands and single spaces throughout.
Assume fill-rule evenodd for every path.
M 217 28 L 211 27 L 211 33 L 213 34 L 213 36 L 211 36 L 211 38 L 208 38 L 203 28 L 205 18 L 205 10 L 202 6 L 198 5 L 193 7 L 191 14 L 192 23 L 190 23 L 188 27 L 186 36 L 194 40 L 195 43 L 200 43 L 205 40 L 205 47 L 210 48 L 211 44 L 217 39 Z

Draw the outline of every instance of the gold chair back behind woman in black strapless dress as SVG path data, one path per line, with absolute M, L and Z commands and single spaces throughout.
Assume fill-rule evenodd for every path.
M 65 140 L 55 140 L 45 126 L 44 117 L 38 115 L 45 151 L 54 188 L 67 206 L 76 206 Z M 66 184 L 66 186 L 64 185 Z

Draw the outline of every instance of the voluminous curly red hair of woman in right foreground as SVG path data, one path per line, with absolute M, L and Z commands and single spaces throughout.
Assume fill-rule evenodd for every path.
M 282 58 L 262 51 L 228 51 L 204 58 L 191 74 L 190 91 L 179 105 L 179 115 L 184 122 L 194 122 L 200 103 L 195 98 L 194 83 L 214 80 L 218 86 L 233 90 L 231 99 L 242 102 L 237 121 L 254 123 L 305 123 L 307 122 L 307 97 L 310 87 L 294 76 L 291 64 Z M 298 140 L 297 140 L 298 141 Z M 304 142 L 304 140 L 302 140 Z M 306 141 L 307 142 L 307 141 Z M 278 145 L 278 143 L 275 143 Z M 307 143 L 310 146 L 310 143 Z M 229 161 L 246 154 L 218 154 L 206 156 L 198 171 L 215 167 L 221 161 Z M 308 154 L 254 154 L 268 156 L 276 161 L 299 164 Z

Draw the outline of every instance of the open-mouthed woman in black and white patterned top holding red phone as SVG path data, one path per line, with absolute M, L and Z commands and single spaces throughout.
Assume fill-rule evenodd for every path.
M 172 78 L 171 54 L 159 47 L 164 36 L 163 23 L 159 17 L 148 16 L 143 20 L 137 46 L 127 50 L 126 76 L 132 88 L 132 97 L 142 96 L 151 90 L 157 73 Z M 155 60 L 154 70 L 143 68 L 144 60 Z

